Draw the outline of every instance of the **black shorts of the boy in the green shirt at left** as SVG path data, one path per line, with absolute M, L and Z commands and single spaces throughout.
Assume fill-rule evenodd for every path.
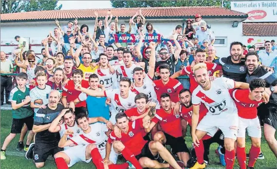
M 29 131 L 32 130 L 33 124 L 34 124 L 34 115 L 29 116 L 27 118 L 20 118 L 20 119 L 13 118 L 11 133 L 13 134 L 21 133 L 21 129 L 24 123 L 26 124 Z

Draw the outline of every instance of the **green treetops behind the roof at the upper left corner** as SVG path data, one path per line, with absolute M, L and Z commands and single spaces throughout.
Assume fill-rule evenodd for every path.
M 1 0 L 1 14 L 60 10 L 58 0 Z

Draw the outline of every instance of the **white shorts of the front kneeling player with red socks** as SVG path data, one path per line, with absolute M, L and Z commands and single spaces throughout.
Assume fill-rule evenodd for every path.
M 92 160 L 92 158 L 86 159 L 86 148 L 87 148 L 87 145 L 77 145 L 62 151 L 66 153 L 70 158 L 70 162 L 67 166 L 72 167 L 74 164 L 76 164 L 79 161 L 84 161 L 86 163 L 89 163 Z

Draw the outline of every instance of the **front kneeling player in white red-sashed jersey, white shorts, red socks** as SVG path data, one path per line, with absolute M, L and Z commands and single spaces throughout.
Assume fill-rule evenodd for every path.
M 87 115 L 80 113 L 76 115 L 75 122 L 82 132 L 80 135 L 74 135 L 67 140 L 68 135 L 73 135 L 74 132 L 70 129 L 65 131 L 65 134 L 59 141 L 59 147 L 74 146 L 55 155 L 55 162 L 58 169 L 67 169 L 78 161 L 92 162 L 97 169 L 104 169 L 103 158 L 105 157 L 105 144 L 107 135 L 102 123 L 97 122 L 97 118 L 87 118 Z M 107 122 L 104 121 L 104 122 Z M 94 123 L 89 125 L 89 123 Z M 109 122 L 111 123 L 111 122 Z M 105 131 L 104 131 L 105 130 Z M 117 155 L 111 154 L 110 160 L 116 163 Z

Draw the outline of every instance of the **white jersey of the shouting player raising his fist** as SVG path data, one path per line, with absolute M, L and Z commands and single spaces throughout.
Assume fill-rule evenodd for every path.
M 135 84 L 133 84 L 133 87 L 135 89 L 134 91 L 132 90 L 133 92 L 135 92 L 136 94 L 144 93 L 144 94 L 148 95 L 148 100 L 155 102 L 156 109 L 160 109 L 160 103 L 157 99 L 157 94 L 156 94 L 154 86 L 153 86 L 153 81 L 148 76 L 148 74 L 144 78 L 143 85 L 141 87 L 136 87 Z

